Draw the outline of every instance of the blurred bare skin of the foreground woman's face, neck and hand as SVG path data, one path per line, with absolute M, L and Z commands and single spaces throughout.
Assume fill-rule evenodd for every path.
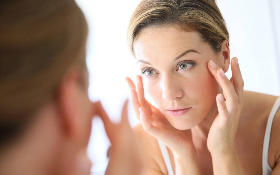
M 34 112 L 26 130 L 2 148 L 0 174 L 89 175 L 86 148 L 93 116 L 101 117 L 112 144 L 106 175 L 140 174 L 142 160 L 132 150 L 137 144 L 127 119 L 127 101 L 122 121 L 114 124 L 100 102 L 89 100 L 87 89 L 87 69 L 72 66 L 59 85 L 57 99 Z

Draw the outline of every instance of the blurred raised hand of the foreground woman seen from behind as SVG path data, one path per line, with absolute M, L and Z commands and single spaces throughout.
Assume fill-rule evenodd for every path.
M 109 163 L 105 175 L 140 175 L 142 172 L 141 150 L 138 148 L 128 122 L 127 106 L 128 101 L 124 103 L 121 122 L 115 124 L 110 121 L 102 104 L 100 102 L 95 104 L 94 113 L 101 117 L 112 144 L 109 149 Z

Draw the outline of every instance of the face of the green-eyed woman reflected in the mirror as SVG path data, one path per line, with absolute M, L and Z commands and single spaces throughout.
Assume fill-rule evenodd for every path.
M 220 54 L 197 32 L 171 26 L 145 28 L 138 34 L 134 52 L 144 89 L 173 127 L 190 129 L 217 111 L 220 89 L 207 63 L 213 60 L 219 65 Z

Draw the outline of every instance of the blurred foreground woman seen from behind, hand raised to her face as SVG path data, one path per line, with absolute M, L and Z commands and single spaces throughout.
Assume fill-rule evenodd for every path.
M 0 12 L 0 174 L 90 174 L 94 115 L 112 143 L 107 174 L 138 174 L 127 103 L 113 124 L 88 98 L 87 24 L 75 1 L 1 1 Z

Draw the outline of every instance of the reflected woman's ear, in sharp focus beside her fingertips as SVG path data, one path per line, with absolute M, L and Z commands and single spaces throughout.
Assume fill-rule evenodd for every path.
M 229 69 L 229 65 L 230 65 L 230 48 L 228 45 L 228 41 L 224 40 L 222 42 L 222 48 L 221 48 L 221 52 L 220 52 L 220 61 L 221 61 L 221 65 L 220 67 L 223 69 L 224 72 L 227 72 Z

